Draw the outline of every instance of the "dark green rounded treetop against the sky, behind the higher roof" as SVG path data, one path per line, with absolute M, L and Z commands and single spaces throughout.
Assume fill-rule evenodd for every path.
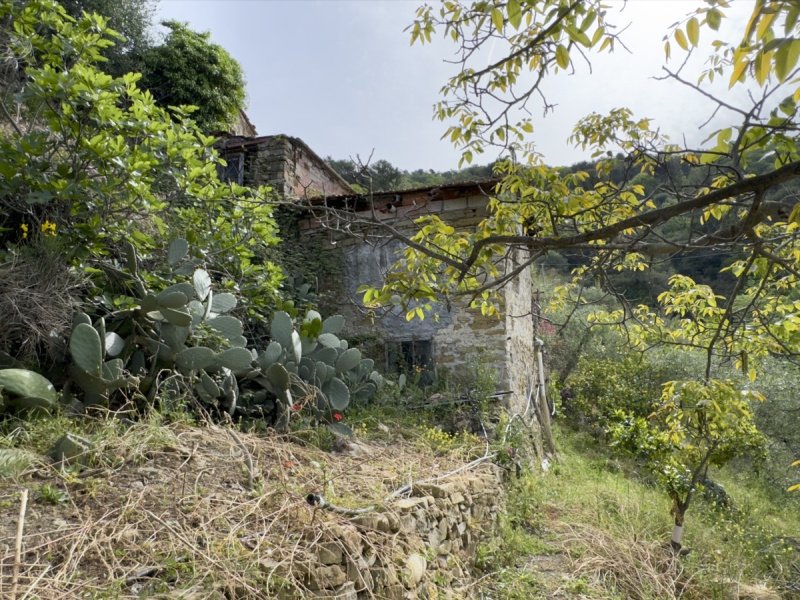
M 168 21 L 164 43 L 144 55 L 142 85 L 162 106 L 194 106 L 201 130 L 227 131 L 244 108 L 244 76 L 239 63 L 211 34 Z

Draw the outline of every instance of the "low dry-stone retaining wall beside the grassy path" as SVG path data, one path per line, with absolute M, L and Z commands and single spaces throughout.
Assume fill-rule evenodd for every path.
M 497 468 L 488 464 L 440 484 L 414 485 L 409 497 L 379 512 L 320 522 L 313 540 L 298 542 L 298 556 L 305 556 L 291 572 L 285 563 L 272 568 L 299 580 L 304 598 L 469 598 L 476 549 L 495 530 L 501 489 Z

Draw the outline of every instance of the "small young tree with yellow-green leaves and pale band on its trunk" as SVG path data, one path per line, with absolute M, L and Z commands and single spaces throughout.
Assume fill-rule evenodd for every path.
M 750 409 L 751 400 L 762 399 L 727 381 L 669 381 L 649 417 L 617 412 L 611 428 L 615 445 L 643 459 L 672 500 L 676 551 L 686 511 L 708 468 L 763 448 Z

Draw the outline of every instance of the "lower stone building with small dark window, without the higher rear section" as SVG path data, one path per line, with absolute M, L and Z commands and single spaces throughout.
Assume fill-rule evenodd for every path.
M 354 222 L 376 220 L 395 229 L 410 232 L 413 220 L 437 214 L 456 228 L 473 227 L 485 215 L 494 181 L 455 183 L 414 190 L 374 194 L 372 198 L 355 194 L 329 196 L 325 204 L 352 214 Z M 525 269 L 502 290 L 504 316 L 482 315 L 468 307 L 467 300 L 453 300 L 434 307 L 435 314 L 407 321 L 399 309 L 380 312 L 366 310 L 358 288 L 379 285 L 404 244 L 377 235 L 353 235 L 339 222 L 331 227 L 325 217 L 301 222 L 301 236 L 314 240 L 325 254 L 336 256 L 334 268 L 318 282 L 328 312 L 347 319 L 348 333 L 388 371 L 416 370 L 427 374 L 450 372 L 474 375 L 483 363 L 494 370 L 500 388 L 511 392 L 509 404 L 524 410 L 527 394 L 536 385 L 534 320 L 531 271 Z M 518 252 L 507 261 L 514 269 L 524 260 Z

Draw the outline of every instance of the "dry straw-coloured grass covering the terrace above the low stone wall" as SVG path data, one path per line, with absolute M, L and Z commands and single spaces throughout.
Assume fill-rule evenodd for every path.
M 373 443 L 364 458 L 298 442 L 137 424 L 101 439 L 81 472 L 39 468 L 13 485 L 0 481 L 0 597 L 14 598 L 22 489 L 31 501 L 14 600 L 296 598 L 318 544 L 337 543 L 345 555 L 402 544 L 309 506 L 307 494 L 363 506 L 460 462 L 402 440 Z M 44 483 L 65 502 L 48 503 Z

